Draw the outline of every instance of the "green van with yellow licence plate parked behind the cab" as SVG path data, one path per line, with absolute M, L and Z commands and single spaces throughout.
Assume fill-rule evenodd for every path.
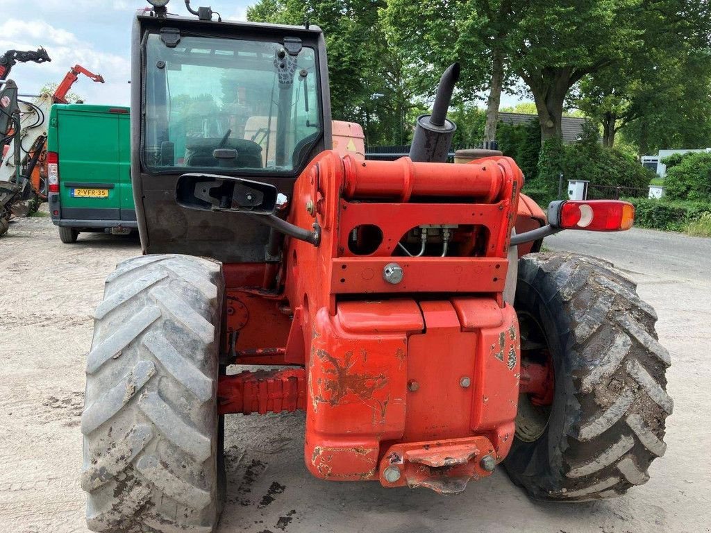
M 62 242 L 80 232 L 138 227 L 131 189 L 129 108 L 52 106 L 47 131 L 48 203 Z

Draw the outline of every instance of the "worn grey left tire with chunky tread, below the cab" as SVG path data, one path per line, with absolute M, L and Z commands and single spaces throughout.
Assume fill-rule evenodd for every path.
M 225 498 L 218 262 L 117 265 L 87 355 L 82 488 L 95 532 L 212 532 Z

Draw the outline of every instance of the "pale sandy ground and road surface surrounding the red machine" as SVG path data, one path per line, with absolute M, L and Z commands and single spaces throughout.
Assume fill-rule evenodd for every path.
M 551 248 L 609 252 L 656 307 L 661 342 L 672 353 L 668 450 L 651 466 L 651 480 L 626 497 L 533 502 L 503 471 L 455 497 L 327 483 L 304 468 L 304 416 L 231 416 L 228 506 L 218 531 L 711 531 L 710 243 L 640 230 L 604 242 L 550 239 Z M 671 259 L 658 260 L 659 252 Z M 79 422 L 91 315 L 114 264 L 139 253 L 134 237 L 82 234 L 62 244 L 48 217 L 15 222 L 0 238 L 0 532 L 86 531 Z

